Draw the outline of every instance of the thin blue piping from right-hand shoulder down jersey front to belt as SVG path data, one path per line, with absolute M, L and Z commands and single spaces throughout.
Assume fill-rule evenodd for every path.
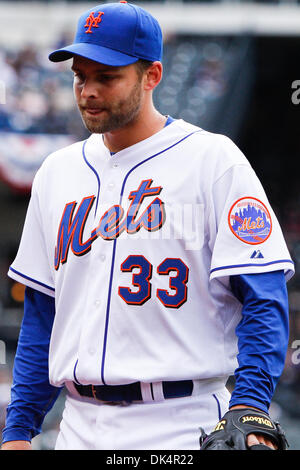
M 160 152 L 156 153 L 155 155 L 152 155 L 151 157 L 146 158 L 146 160 L 143 160 L 142 162 L 139 162 L 137 165 L 135 165 L 133 168 L 131 168 L 131 170 L 129 170 L 128 173 L 126 174 L 126 176 L 125 176 L 125 178 L 124 178 L 124 181 L 123 181 L 119 205 L 120 205 L 120 206 L 122 205 L 122 198 L 123 198 L 124 189 L 125 189 L 125 185 L 126 185 L 127 179 L 128 179 L 128 177 L 129 177 L 129 175 L 130 175 L 136 168 L 138 168 L 139 166 L 141 166 L 141 165 L 143 165 L 144 163 L 148 162 L 149 160 L 152 160 L 152 158 L 158 157 L 158 156 L 161 155 L 162 153 L 167 152 L 167 151 L 170 150 L 171 148 L 175 147 L 176 145 L 180 144 L 181 142 L 183 142 L 184 140 L 188 139 L 189 137 L 191 137 L 192 135 L 194 135 L 194 134 L 196 134 L 196 133 L 198 133 L 198 132 L 203 132 L 203 130 L 202 130 L 202 129 L 199 129 L 199 130 L 196 130 L 196 131 L 191 132 L 190 134 L 188 134 L 188 135 L 186 135 L 185 137 L 183 137 L 182 139 L 180 139 L 178 142 L 175 142 L 175 144 L 170 145 L 170 147 L 168 147 L 168 148 L 166 148 L 166 149 L 164 149 L 164 150 L 161 150 Z M 103 338 L 102 364 L 101 364 L 101 379 L 102 379 L 102 383 L 103 383 L 104 385 L 107 385 L 107 384 L 105 383 L 105 380 L 104 380 L 104 366 L 105 366 L 105 357 L 106 357 L 107 333 L 108 333 L 109 312 L 110 312 L 110 300 L 111 300 L 113 272 L 114 272 L 114 265 L 115 265 L 116 247 L 117 247 L 117 239 L 115 238 L 115 239 L 114 239 L 114 245 L 113 245 L 112 262 L 111 262 L 111 270 L 110 270 L 110 279 L 109 279 L 109 287 L 108 287 L 108 297 L 107 297 L 107 306 L 106 306 L 106 319 L 105 319 L 104 338 Z

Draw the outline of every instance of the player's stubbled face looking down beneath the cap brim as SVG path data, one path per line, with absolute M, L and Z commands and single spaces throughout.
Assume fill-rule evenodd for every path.
M 110 67 L 74 57 L 72 70 L 77 105 L 90 132 L 111 132 L 137 119 L 143 88 L 134 64 Z

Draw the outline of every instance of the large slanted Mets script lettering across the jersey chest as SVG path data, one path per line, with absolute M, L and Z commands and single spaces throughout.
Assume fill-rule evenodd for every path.
M 152 180 L 142 181 L 136 191 L 131 191 L 128 199 L 130 201 L 128 210 L 125 211 L 121 205 L 109 208 L 101 217 L 99 225 L 91 232 L 87 240 L 83 240 L 83 231 L 95 201 L 95 196 L 82 199 L 77 207 L 77 202 L 69 202 L 65 205 L 62 218 L 57 232 L 57 243 L 55 247 L 54 266 L 57 270 L 60 264 L 67 261 L 69 249 L 76 256 L 86 254 L 97 237 L 104 240 L 114 240 L 123 232 L 128 234 L 137 233 L 141 228 L 154 232 L 159 230 L 165 222 L 164 203 L 156 197 L 144 209 L 140 207 L 145 198 L 157 196 L 162 187 L 151 187 Z

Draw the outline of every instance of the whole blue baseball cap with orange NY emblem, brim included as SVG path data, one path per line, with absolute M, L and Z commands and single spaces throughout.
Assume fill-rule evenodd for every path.
M 139 59 L 161 61 L 162 50 L 158 21 L 143 8 L 122 1 L 83 13 L 73 44 L 52 52 L 49 59 L 61 62 L 79 55 L 105 65 L 123 66 Z

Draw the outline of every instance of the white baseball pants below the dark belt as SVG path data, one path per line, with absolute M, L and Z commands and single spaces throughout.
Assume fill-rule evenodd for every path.
M 55 450 L 199 450 L 228 410 L 224 381 L 196 381 L 192 396 L 110 405 L 68 394 Z

